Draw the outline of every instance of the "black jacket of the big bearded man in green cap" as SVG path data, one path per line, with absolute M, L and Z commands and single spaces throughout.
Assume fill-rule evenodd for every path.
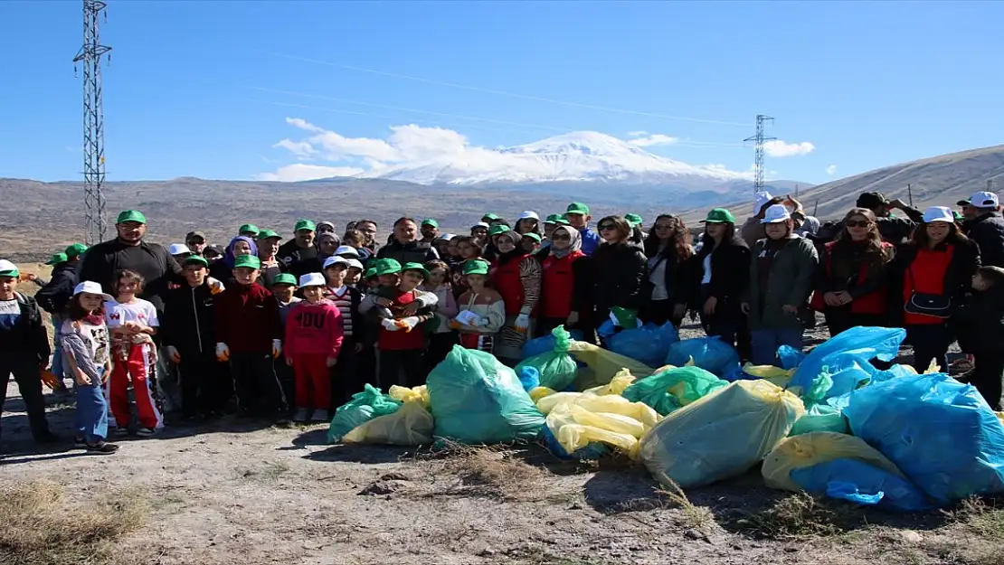
M 138 246 L 130 246 L 117 239 L 88 249 L 77 279 L 96 282 L 104 292 L 114 294 L 112 290 L 116 281 L 113 278 L 119 269 L 130 269 L 143 276 L 145 287 L 140 298 L 151 301 L 159 312 L 164 311 L 168 285 L 186 284 L 182 268 L 160 245 L 141 242 Z

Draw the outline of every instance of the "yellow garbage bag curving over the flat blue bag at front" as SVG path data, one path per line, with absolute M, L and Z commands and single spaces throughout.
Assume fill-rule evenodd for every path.
M 906 480 L 895 463 L 864 440 L 834 432 L 813 432 L 783 440 L 767 455 L 761 472 L 768 488 L 797 493 L 802 488 L 791 480 L 792 471 L 838 459 L 857 460 Z

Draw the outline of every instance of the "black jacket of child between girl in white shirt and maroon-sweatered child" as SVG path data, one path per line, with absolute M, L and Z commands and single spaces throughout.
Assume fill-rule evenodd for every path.
M 168 292 L 161 317 L 161 339 L 186 354 L 215 354 L 216 321 L 214 301 L 208 284 L 185 285 Z

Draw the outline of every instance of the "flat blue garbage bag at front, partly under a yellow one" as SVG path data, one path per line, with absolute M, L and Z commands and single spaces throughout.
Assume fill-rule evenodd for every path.
M 930 510 L 931 503 L 910 481 L 853 459 L 793 469 L 791 480 L 805 492 L 899 512 Z

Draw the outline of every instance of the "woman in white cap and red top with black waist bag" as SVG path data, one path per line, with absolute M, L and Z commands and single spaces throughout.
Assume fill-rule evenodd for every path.
M 914 346 L 914 368 L 924 372 L 934 360 L 947 373 L 954 340 L 948 321 L 980 267 L 980 249 L 962 235 L 951 210 L 932 206 L 893 265 L 902 283 L 902 327 Z

